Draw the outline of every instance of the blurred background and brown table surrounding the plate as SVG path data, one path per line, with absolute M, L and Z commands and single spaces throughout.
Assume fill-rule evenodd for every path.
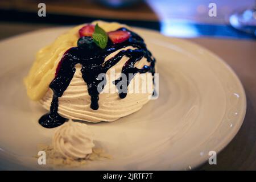
M 38 16 L 45 3 L 46 16 Z M 216 16 L 210 16 L 216 5 Z M 72 26 L 102 19 L 150 28 L 187 39 L 216 53 L 237 73 L 245 88 L 245 121 L 218 154 L 218 165 L 198 169 L 256 169 L 255 0 L 1 0 L 0 39 L 28 31 Z M 4 60 L 2 60 L 4 61 Z

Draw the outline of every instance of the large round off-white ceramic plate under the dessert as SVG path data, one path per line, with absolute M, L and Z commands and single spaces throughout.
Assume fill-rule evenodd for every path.
M 38 49 L 68 28 L 51 28 L 0 43 L 0 168 L 49 169 L 34 157 L 56 129 L 38 119 L 46 110 L 26 96 L 23 77 Z M 97 147 L 113 159 L 80 169 L 193 169 L 232 140 L 246 97 L 236 74 L 219 57 L 188 41 L 135 28 L 156 57 L 159 97 L 115 122 L 88 123 Z M 73 168 L 72 168 L 73 169 Z

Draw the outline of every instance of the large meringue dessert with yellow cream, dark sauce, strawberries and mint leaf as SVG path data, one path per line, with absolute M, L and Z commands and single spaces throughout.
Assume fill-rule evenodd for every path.
M 141 36 L 124 24 L 95 21 L 40 49 L 24 82 L 28 97 L 49 110 L 40 125 L 52 128 L 67 119 L 112 122 L 138 111 L 154 93 L 154 73 L 155 59 Z M 133 92 L 136 80 L 147 92 Z

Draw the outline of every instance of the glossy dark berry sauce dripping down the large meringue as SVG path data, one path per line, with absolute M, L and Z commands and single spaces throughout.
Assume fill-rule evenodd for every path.
M 75 74 L 75 65 L 81 64 L 81 73 L 82 78 L 88 86 L 88 93 L 91 97 L 90 107 L 93 110 L 98 109 L 98 100 L 99 92 L 102 90 L 104 85 L 100 85 L 102 80 L 98 80 L 97 77 L 101 73 L 106 73 L 110 68 L 118 63 L 123 56 L 129 57 L 129 60 L 123 65 L 122 73 L 129 77 L 129 73 L 146 73 L 151 72 L 154 78 L 155 73 L 155 59 L 152 57 L 151 52 L 146 48 L 146 44 L 143 39 L 135 34 L 134 32 L 127 30 L 126 28 L 119 28 L 119 30 L 131 32 L 131 36 L 128 40 L 123 43 L 113 44 L 111 41 L 108 42 L 108 45 L 105 49 L 100 49 L 95 47 L 92 49 L 86 49 L 83 47 L 72 47 L 66 51 L 57 66 L 55 78 L 52 80 L 49 88 L 53 90 L 53 98 L 51 102 L 51 109 L 49 113 L 44 114 L 40 119 L 39 123 L 43 127 L 52 128 L 62 125 L 67 119 L 61 117 L 58 113 L 58 98 L 61 97 L 64 91 L 68 88 L 69 83 L 71 82 Z M 137 49 L 127 49 L 122 50 L 117 53 L 114 57 L 107 60 L 104 63 L 105 57 L 117 51 L 118 49 L 125 48 L 128 46 L 135 47 Z M 142 57 L 146 57 L 147 61 L 150 63 L 149 66 L 144 65 L 142 69 L 135 68 L 134 65 L 137 61 L 141 60 Z M 130 83 L 130 79 L 122 80 L 121 78 L 115 80 L 115 84 L 119 90 L 119 97 L 125 98 L 126 93 L 122 92 L 122 86 L 125 85 L 125 88 Z M 121 86 L 120 86 L 121 85 Z M 102 88 L 98 89 L 98 86 Z M 120 89 L 121 88 L 121 89 Z

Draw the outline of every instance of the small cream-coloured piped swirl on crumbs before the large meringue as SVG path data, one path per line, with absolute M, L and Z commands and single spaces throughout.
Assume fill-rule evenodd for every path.
M 63 158 L 83 159 L 92 154 L 92 137 L 86 124 L 69 120 L 55 131 L 52 145 Z

